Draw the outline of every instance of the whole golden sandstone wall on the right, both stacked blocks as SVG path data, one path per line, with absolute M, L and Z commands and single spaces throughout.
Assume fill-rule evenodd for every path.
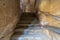
M 41 0 L 38 8 L 42 25 L 60 28 L 60 0 Z

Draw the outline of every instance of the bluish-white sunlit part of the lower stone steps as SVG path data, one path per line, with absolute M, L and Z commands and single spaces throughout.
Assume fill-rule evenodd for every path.
M 31 27 L 25 30 L 24 35 L 18 38 L 18 40 L 46 40 L 51 39 L 43 29 L 40 27 Z

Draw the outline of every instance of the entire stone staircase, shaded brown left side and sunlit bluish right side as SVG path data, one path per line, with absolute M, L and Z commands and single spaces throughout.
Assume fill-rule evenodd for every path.
M 22 14 L 21 20 L 17 24 L 11 40 L 52 40 L 52 37 L 50 37 L 50 35 L 47 35 L 49 32 L 46 31 L 47 29 L 57 34 L 60 33 L 60 29 L 51 27 L 42 28 L 38 24 L 38 20 L 36 20 L 36 15 L 30 13 Z M 57 36 L 54 39 L 60 40 L 59 37 L 60 36 Z

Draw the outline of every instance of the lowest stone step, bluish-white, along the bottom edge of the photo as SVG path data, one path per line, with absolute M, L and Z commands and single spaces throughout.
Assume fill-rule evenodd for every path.
M 46 40 L 48 37 L 46 35 L 41 36 L 41 35 L 16 35 L 13 37 L 11 40 Z

